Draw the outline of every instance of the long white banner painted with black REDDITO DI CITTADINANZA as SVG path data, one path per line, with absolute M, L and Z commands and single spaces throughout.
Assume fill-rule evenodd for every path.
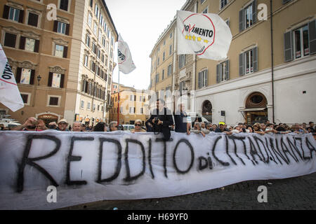
M 0 209 L 171 197 L 316 171 L 312 134 L 0 132 Z M 55 187 L 56 186 L 56 187 Z M 54 195 L 55 194 L 55 195 Z

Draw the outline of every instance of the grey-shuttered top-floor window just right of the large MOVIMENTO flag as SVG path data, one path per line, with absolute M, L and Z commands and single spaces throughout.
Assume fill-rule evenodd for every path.
M 239 31 L 251 27 L 256 22 L 256 0 L 252 1 L 248 6 L 239 11 Z

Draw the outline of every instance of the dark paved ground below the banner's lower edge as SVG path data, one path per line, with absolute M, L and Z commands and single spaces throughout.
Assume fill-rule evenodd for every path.
M 268 202 L 257 200 L 266 186 Z M 103 201 L 65 209 L 98 210 L 316 209 L 316 172 L 290 179 L 245 181 L 201 193 L 147 200 Z

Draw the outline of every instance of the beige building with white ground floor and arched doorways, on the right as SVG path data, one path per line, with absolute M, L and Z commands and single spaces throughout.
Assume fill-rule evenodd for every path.
M 312 0 L 188 0 L 180 10 L 220 15 L 232 43 L 223 61 L 174 57 L 173 92 L 185 86 L 187 109 L 212 123 L 315 120 L 315 6 Z

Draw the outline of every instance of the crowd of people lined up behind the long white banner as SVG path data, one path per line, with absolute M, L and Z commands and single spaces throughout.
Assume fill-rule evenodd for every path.
M 294 124 L 287 125 L 285 123 L 270 123 L 267 120 L 265 123 L 254 123 L 249 125 L 247 123 L 238 123 L 238 125 L 227 125 L 224 122 L 218 124 L 204 123 L 198 118 L 193 122 L 188 119 L 187 113 L 185 113 L 185 107 L 180 104 L 178 111 L 171 115 L 169 109 L 164 106 L 164 101 L 162 99 L 157 100 L 157 109 L 152 111 L 152 115 L 143 125 L 142 120 L 136 120 L 134 123 L 134 129 L 131 130 L 132 133 L 135 132 L 162 132 L 166 140 L 170 139 L 170 131 L 182 132 L 182 133 L 195 133 L 202 134 L 203 137 L 210 132 L 222 132 L 225 134 L 234 133 L 256 133 L 256 134 L 287 134 L 294 132 L 296 134 L 304 133 L 315 133 L 314 123 L 310 121 L 308 125 Z M 174 120 L 174 122 L 173 122 Z M 21 130 L 21 131 L 43 131 L 43 130 L 58 130 L 64 132 L 114 132 L 117 130 L 124 130 L 122 125 L 118 125 L 116 121 L 107 123 L 97 123 L 96 126 L 86 126 L 80 122 L 74 122 L 72 126 L 67 123 L 67 120 L 61 119 L 58 123 L 52 122 L 48 125 L 45 124 L 44 120 L 37 118 L 27 118 L 25 123 L 17 127 L 12 127 L 11 129 L 1 127 L 1 130 Z

